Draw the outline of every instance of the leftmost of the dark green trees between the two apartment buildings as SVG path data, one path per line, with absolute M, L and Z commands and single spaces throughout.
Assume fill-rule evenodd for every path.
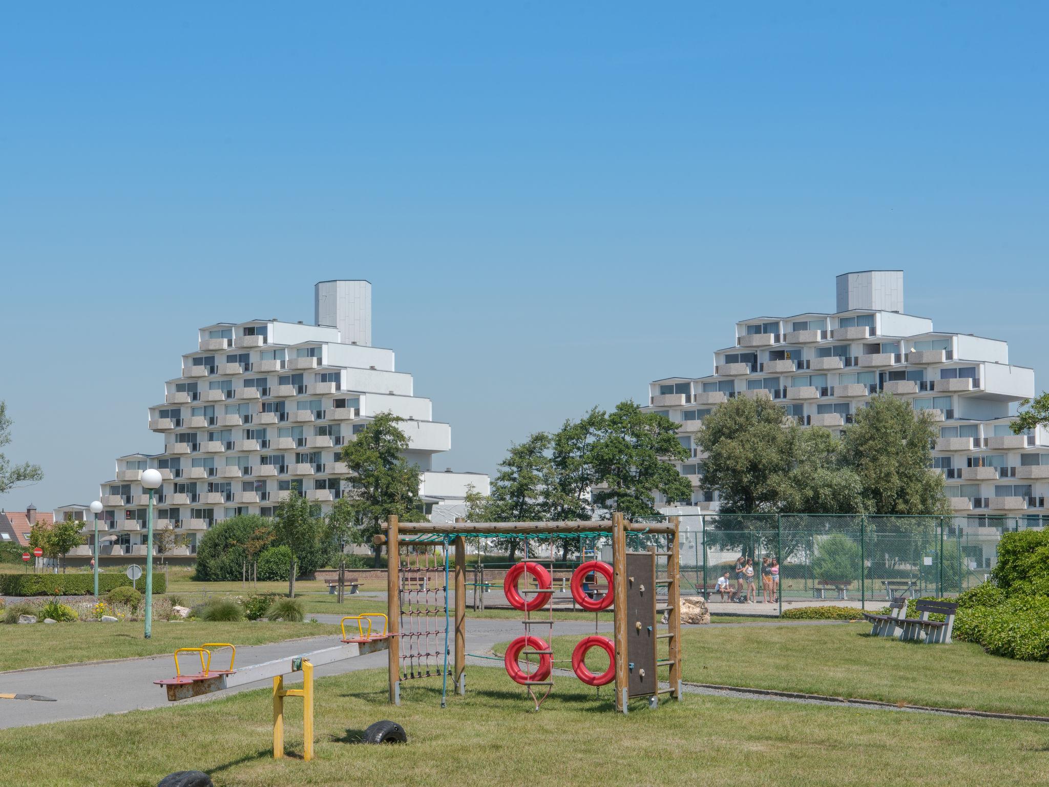
M 530 434 L 519 445 L 510 446 L 492 482 L 492 493 L 485 513 L 489 522 L 543 522 L 550 513 L 547 498 L 553 490 L 553 468 L 547 451 L 551 439 L 547 432 Z M 513 562 L 519 538 L 496 538 L 495 547 L 506 550 Z

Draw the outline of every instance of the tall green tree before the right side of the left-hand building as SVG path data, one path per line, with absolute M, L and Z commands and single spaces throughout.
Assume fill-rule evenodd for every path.
M 359 523 L 359 537 L 369 544 L 390 515 L 405 522 L 426 518 L 419 498 L 419 468 L 404 459 L 408 438 L 398 427 L 403 421 L 400 416 L 380 412 L 342 449 L 342 461 L 352 476 L 344 496 Z M 390 546 L 388 555 L 394 553 Z M 381 548 L 372 549 L 378 567 Z

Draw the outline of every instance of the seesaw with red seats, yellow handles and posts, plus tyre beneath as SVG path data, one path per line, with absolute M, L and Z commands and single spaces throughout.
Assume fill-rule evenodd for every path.
M 372 632 L 372 619 L 382 619 L 382 630 Z M 357 623 L 357 636 L 346 636 L 346 621 Z M 279 760 L 284 757 L 284 699 L 287 697 L 302 698 L 302 739 L 303 760 L 314 759 L 314 668 L 331 664 L 343 659 L 364 656 L 368 653 L 386 650 L 389 639 L 386 615 L 369 613 L 363 615 L 346 615 L 341 621 L 342 641 L 334 647 L 320 651 L 286 656 L 261 664 L 235 668 L 234 661 L 237 648 L 229 642 L 205 642 L 199 647 L 179 647 L 174 653 L 175 677 L 154 681 L 164 686 L 168 693 L 168 701 L 186 700 L 200 697 L 227 688 L 254 683 L 255 681 L 273 679 L 273 757 Z M 350 631 L 352 635 L 352 630 Z M 230 663 L 224 669 L 212 668 L 212 655 L 216 651 L 229 650 Z M 200 659 L 200 672 L 184 675 L 178 663 L 178 654 L 196 654 Z M 302 673 L 302 688 L 284 688 L 284 676 Z M 376 739 L 373 730 L 382 727 L 386 733 Z M 395 728 L 395 729 L 394 729 Z M 400 731 L 398 731 L 400 730 Z M 392 735 L 392 738 L 388 738 Z M 393 722 L 377 722 L 368 728 L 368 742 L 386 742 L 387 740 L 404 740 L 404 731 Z

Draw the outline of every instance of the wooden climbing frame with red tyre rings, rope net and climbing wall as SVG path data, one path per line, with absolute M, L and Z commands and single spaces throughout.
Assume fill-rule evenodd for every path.
M 596 631 L 582 639 L 572 657 L 573 671 L 584 683 L 601 686 L 615 681 L 616 709 L 627 711 L 633 698 L 648 697 L 652 706 L 661 694 L 681 699 L 681 608 L 679 523 L 635 524 L 622 514 L 613 514 L 601 522 L 534 522 L 534 523 L 400 523 L 397 516 L 387 519 L 385 534 L 374 537 L 376 545 L 387 545 L 387 614 L 389 618 L 389 700 L 401 703 L 401 682 L 419 678 L 441 677 L 442 706 L 446 704 L 447 683 L 451 677 L 454 689 L 466 694 L 466 539 L 519 538 L 523 543 L 523 560 L 507 573 L 504 592 L 512 607 L 524 613 L 521 623 L 524 634 L 507 650 L 507 673 L 523 685 L 536 709 L 550 695 L 553 681 L 553 652 L 547 639 L 537 636 L 533 626 L 547 625 L 548 638 L 553 632 L 554 593 L 552 571 L 543 565 L 534 545 L 545 543 L 550 556 L 545 562 L 553 568 L 554 540 L 562 537 L 609 538 L 613 561 L 609 567 L 588 560 L 577 567 L 572 577 L 572 595 L 584 610 L 599 613 L 613 611 L 614 639 Z M 648 546 L 645 550 L 627 550 L 631 536 L 642 540 L 663 540 L 665 547 Z M 444 558 L 432 548 L 443 546 Z M 454 560 L 450 555 L 454 553 Z M 666 578 L 659 576 L 660 558 L 665 559 Z M 519 580 L 530 575 L 535 589 L 520 589 Z M 593 577 L 604 577 L 608 590 L 598 596 Z M 453 592 L 449 593 L 449 584 Z M 660 594 L 659 589 L 665 589 Z M 662 599 L 660 596 L 662 595 Z M 454 611 L 449 597 L 454 598 Z M 533 613 L 547 609 L 545 619 Z M 666 614 L 667 630 L 659 631 L 660 616 Z M 451 667 L 449 639 L 454 639 Z M 661 641 L 667 651 L 660 657 Z M 584 659 L 592 647 L 604 650 L 609 668 L 596 675 L 586 668 Z M 519 659 L 526 660 L 522 669 Z M 538 658 L 530 672 L 531 659 Z M 659 686 L 658 671 L 669 668 L 668 688 Z M 544 689 L 541 696 L 538 688 Z

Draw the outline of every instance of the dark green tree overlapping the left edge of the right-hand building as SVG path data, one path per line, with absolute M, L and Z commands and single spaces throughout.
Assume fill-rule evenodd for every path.
M 671 464 L 688 459 L 676 425 L 658 412 L 642 411 L 633 401 L 620 402 L 607 413 L 588 456 L 598 485 L 594 503 L 608 511 L 633 519 L 659 513 L 654 492 L 668 501 L 691 497 L 691 485 Z

